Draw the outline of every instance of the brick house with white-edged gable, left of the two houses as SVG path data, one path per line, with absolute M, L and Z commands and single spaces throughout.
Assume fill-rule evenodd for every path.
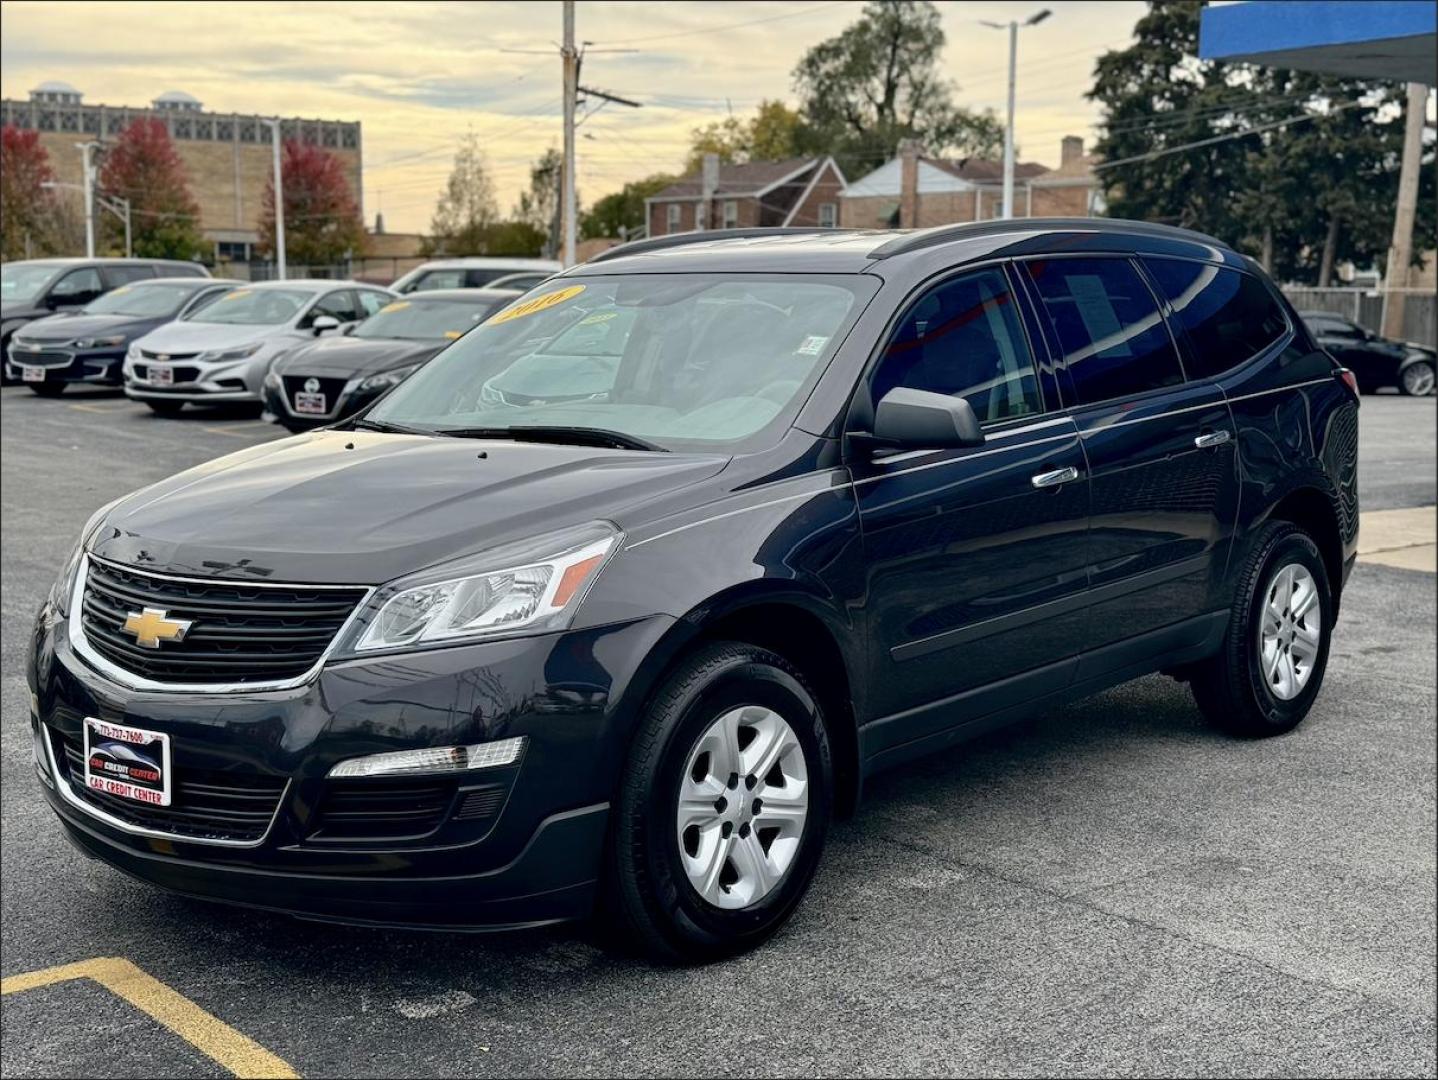
M 644 200 L 650 236 L 696 229 L 838 226 L 844 174 L 834 158 L 788 158 L 703 168 Z

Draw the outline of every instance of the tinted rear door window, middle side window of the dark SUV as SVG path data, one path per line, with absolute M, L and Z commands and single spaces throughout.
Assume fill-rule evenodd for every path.
M 1183 368 L 1158 303 L 1127 259 L 1028 263 L 1078 404 L 1172 387 Z

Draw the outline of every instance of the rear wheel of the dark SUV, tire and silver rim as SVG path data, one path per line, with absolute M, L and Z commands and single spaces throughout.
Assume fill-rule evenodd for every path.
M 1297 728 L 1323 685 L 1333 613 L 1313 538 L 1291 522 L 1265 525 L 1240 572 L 1224 647 L 1194 672 L 1198 708 L 1234 735 Z

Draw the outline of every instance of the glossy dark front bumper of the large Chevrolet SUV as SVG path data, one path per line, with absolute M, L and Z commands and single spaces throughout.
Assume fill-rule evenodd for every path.
M 86 854 L 203 899 L 439 929 L 584 917 L 633 702 L 646 692 L 636 672 L 669 626 L 654 617 L 332 663 L 288 690 L 178 693 L 115 685 L 72 651 L 65 621 L 42 611 L 29 672 L 42 790 Z M 180 785 L 201 774 L 283 785 L 263 836 L 224 843 L 111 817 L 68 778 L 65 746 L 82 738 L 85 716 L 168 732 Z M 444 810 L 418 831 L 331 828 L 336 784 L 370 794 L 397 784 L 328 781 L 335 762 L 516 735 L 528 739 L 516 765 L 441 778 Z M 482 804 L 482 814 L 462 813 Z

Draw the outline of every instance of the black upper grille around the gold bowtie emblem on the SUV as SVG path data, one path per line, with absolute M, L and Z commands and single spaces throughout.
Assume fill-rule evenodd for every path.
M 364 595 L 362 588 L 178 581 L 91 559 L 81 628 L 95 651 L 147 679 L 278 682 L 313 667 Z M 139 646 L 121 627 L 145 607 L 188 620 L 184 639 Z

